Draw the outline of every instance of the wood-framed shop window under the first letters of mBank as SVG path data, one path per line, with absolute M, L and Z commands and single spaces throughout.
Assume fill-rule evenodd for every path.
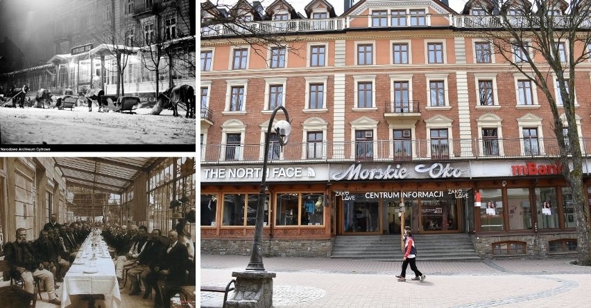
M 507 190 L 507 209 L 509 211 L 509 229 L 531 229 L 529 188 L 509 188 Z

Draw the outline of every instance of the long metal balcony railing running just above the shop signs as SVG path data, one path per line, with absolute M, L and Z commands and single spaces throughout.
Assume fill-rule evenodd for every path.
M 591 157 L 591 138 L 581 138 L 583 156 Z M 202 145 L 202 163 L 261 163 L 264 145 Z M 270 149 L 270 161 L 425 161 L 490 158 L 555 158 L 556 138 L 359 141 L 345 143 L 288 143 Z

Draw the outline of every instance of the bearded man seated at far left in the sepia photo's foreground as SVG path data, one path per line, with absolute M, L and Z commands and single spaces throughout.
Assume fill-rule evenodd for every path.
M 33 277 L 40 278 L 45 283 L 49 303 L 61 305 L 61 302 L 55 298 L 55 282 L 53 274 L 47 271 L 43 264 L 35 260 L 35 253 L 31 244 L 26 240 L 26 230 L 17 229 L 17 240 L 10 243 L 6 248 L 6 260 L 10 264 L 10 274 L 13 278 L 22 278 L 25 291 L 35 293 L 33 289 Z

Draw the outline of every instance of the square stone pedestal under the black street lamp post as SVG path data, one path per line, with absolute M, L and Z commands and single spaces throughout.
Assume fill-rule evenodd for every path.
M 267 271 L 234 271 L 234 293 L 225 302 L 228 308 L 271 308 L 273 306 L 273 278 Z

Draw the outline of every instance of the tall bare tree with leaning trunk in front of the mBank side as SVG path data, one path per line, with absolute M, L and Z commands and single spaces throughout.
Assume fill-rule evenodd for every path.
M 512 0 L 493 3 L 491 15 L 467 17 L 495 55 L 544 93 L 552 114 L 562 175 L 572 190 L 578 264 L 591 265 L 589 208 L 583 190 L 583 154 L 577 130 L 577 66 L 590 60 L 591 1 Z M 587 73 L 585 73 L 586 75 Z M 554 94 L 557 89 L 558 94 Z M 561 117 L 561 112 L 564 116 Z

